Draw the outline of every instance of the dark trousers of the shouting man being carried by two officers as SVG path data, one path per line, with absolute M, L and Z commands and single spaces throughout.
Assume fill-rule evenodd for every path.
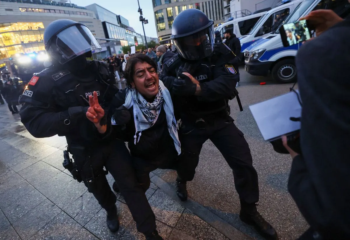
M 176 170 L 177 160 L 178 156 L 175 147 L 172 149 L 163 149 L 161 153 L 158 153 L 157 156 L 149 160 L 140 157 L 132 157 L 136 177 L 144 192 L 146 192 L 149 185 L 151 185 L 151 179 L 149 179 L 150 172 L 158 168 Z

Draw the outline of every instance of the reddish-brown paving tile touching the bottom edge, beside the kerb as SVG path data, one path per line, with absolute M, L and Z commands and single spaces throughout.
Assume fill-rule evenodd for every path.
M 198 216 L 186 209 L 177 223 L 177 230 L 180 230 L 198 240 L 225 240 L 226 237 L 214 227 L 205 223 Z

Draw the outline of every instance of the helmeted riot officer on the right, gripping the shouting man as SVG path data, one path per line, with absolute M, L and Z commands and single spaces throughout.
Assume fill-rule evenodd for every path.
M 213 21 L 198 9 L 184 10 L 176 16 L 170 38 L 178 53 L 164 65 L 161 79 L 173 78 L 174 93 L 179 96 L 174 105 L 181 106 L 177 110 L 182 121 L 183 155 L 181 169 L 177 170 L 177 195 L 187 200 L 186 182 L 194 178 L 202 145 L 210 139 L 233 170 L 240 219 L 253 225 L 263 237 L 278 239 L 274 228 L 257 211 L 258 175 L 248 143 L 227 108 L 227 99 L 237 97 L 239 102 L 235 88 L 238 57 L 225 44 L 214 43 Z

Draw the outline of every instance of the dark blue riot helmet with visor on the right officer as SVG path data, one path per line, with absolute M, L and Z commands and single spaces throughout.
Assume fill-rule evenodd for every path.
M 190 8 L 173 21 L 172 40 L 180 56 L 189 60 L 202 59 L 214 51 L 214 22 L 201 10 Z

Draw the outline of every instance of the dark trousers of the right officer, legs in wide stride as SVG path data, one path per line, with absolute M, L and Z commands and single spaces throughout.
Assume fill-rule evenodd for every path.
M 252 165 L 252 155 L 243 133 L 230 116 L 210 119 L 202 122 L 201 126 L 182 122 L 180 141 L 183 154 L 177 169 L 180 180 L 191 181 L 194 178 L 203 143 L 208 139 L 214 143 L 232 169 L 241 203 L 258 202 L 258 175 Z

